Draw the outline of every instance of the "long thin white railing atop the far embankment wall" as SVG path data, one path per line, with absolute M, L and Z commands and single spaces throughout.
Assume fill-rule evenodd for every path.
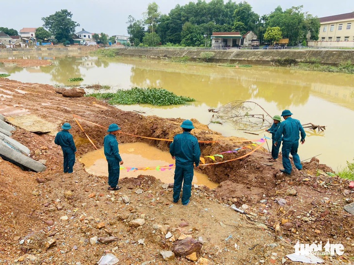
M 125 47 L 125 46 L 110 46 L 107 48 L 128 48 L 128 49 L 168 49 L 168 50 L 354 50 L 354 47 L 309 47 L 309 46 L 302 46 L 302 47 L 280 47 L 280 46 L 269 46 L 269 47 Z

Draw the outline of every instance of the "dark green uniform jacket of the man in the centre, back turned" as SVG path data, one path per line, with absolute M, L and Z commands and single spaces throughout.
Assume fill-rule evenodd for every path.
M 198 140 L 190 132 L 177 134 L 170 145 L 171 156 L 176 157 L 176 166 L 199 166 L 200 148 Z

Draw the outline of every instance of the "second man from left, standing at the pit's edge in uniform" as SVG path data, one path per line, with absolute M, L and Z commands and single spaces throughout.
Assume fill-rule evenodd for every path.
M 123 165 L 122 157 L 119 155 L 118 141 L 116 135 L 120 130 L 119 126 L 116 124 L 111 124 L 108 127 L 108 135 L 105 136 L 103 141 L 104 155 L 106 156 L 108 162 L 108 189 L 118 190 L 118 180 L 120 166 Z

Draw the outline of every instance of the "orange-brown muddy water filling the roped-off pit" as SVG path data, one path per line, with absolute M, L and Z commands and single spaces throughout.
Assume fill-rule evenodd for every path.
M 174 164 L 171 155 L 163 152 L 160 149 L 150 146 L 147 143 L 134 142 L 119 144 L 119 153 L 123 158 L 124 167 L 150 167 L 166 166 Z M 85 170 L 94 175 L 108 176 L 108 166 L 105 159 L 103 148 L 89 152 L 80 158 L 80 162 L 85 165 Z M 175 169 L 156 171 L 129 171 L 121 170 L 120 178 L 122 177 L 137 177 L 141 174 L 152 175 L 160 179 L 164 183 L 173 183 Z M 204 185 L 209 188 L 218 187 L 219 184 L 208 179 L 207 175 L 194 171 L 193 184 Z

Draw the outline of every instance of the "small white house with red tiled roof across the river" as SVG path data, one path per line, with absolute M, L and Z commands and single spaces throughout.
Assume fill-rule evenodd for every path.
M 234 32 L 213 32 L 211 37 L 211 47 L 215 49 L 240 47 L 242 35 L 238 31 Z

